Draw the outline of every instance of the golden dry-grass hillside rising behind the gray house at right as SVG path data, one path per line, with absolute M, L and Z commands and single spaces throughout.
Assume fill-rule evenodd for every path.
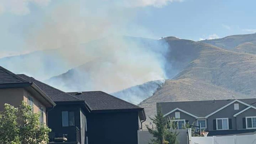
M 252 98 L 256 95 L 256 55 L 196 43 L 203 47 L 198 57 L 139 104 L 147 115 L 155 114 L 156 102 Z M 147 122 L 149 119 L 145 124 Z

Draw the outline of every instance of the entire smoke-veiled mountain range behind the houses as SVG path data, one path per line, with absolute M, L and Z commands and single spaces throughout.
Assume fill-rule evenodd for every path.
M 199 42 L 177 37 L 166 37 L 159 40 L 134 37 L 122 37 L 122 39 L 127 42 L 125 44 L 118 43 L 118 47 L 126 46 L 127 48 L 123 55 L 117 52 L 118 49 L 109 51 L 113 49 L 111 44 L 116 45 L 115 39 L 112 41 L 99 39 L 81 45 L 82 48 L 90 47 L 99 49 L 99 51 L 93 53 L 93 58 L 90 61 L 79 61 L 80 66 L 72 67 L 71 65 L 70 67 L 69 65 L 69 70 L 64 70 L 62 74 L 59 72 L 63 71 L 63 66 L 57 64 L 62 60 L 58 61 L 54 52 L 49 52 L 49 55 L 45 55 L 45 52 L 40 55 L 38 52 L 33 57 L 29 54 L 28 56 L 17 56 L 17 58 L 3 58 L 0 59 L 0 64 L 7 66 L 6 68 L 10 70 L 12 70 L 10 67 L 15 68 L 18 65 L 17 70 L 21 71 L 18 73 L 30 72 L 26 68 L 34 65 L 35 70 L 31 73 L 47 73 L 45 70 L 48 68 L 50 69 L 49 75 L 56 73 L 56 76 L 51 77 L 46 82 L 64 91 L 118 89 L 118 92 L 112 91 L 110 93 L 135 104 L 139 103 L 139 106 L 145 108 L 146 114 L 151 116 L 156 113 L 156 102 L 255 98 L 256 34 L 234 35 Z M 132 47 L 133 44 L 136 44 L 135 48 Z M 121 60 L 134 61 L 132 63 L 134 66 L 140 63 L 139 60 L 144 60 L 136 59 L 143 56 L 139 55 L 141 54 L 140 49 L 150 51 L 150 56 L 157 56 L 157 60 L 160 60 L 160 66 L 164 70 L 166 80 L 149 80 L 147 83 L 140 83 L 136 79 L 131 80 L 130 72 L 140 73 L 138 78 L 141 78 L 148 74 L 148 71 L 140 71 L 143 69 L 140 66 L 129 67 L 131 66 L 130 63 L 121 63 L 120 65 L 116 59 L 112 59 L 113 53 L 117 57 L 131 54 L 129 53 L 130 49 L 136 50 L 136 55 Z M 101 57 L 100 54 L 102 53 L 100 52 L 106 53 L 106 57 Z M 41 60 L 36 56 L 48 58 Z M 53 63 L 50 63 L 52 59 Z M 154 60 L 147 59 L 145 64 L 152 66 Z M 13 61 L 14 64 L 12 64 Z M 42 61 L 41 65 L 43 66 L 39 65 L 40 61 Z M 37 62 L 38 65 L 36 65 Z M 114 69 L 114 72 L 117 73 L 113 74 L 112 68 L 117 65 L 120 68 Z M 125 69 L 127 67 L 128 69 Z M 129 68 L 132 71 L 126 75 L 119 73 L 119 71 L 130 70 Z M 52 70 L 56 72 L 52 72 Z M 41 72 L 37 73 L 37 71 Z M 98 75 L 94 74 L 98 72 L 101 72 L 102 75 L 95 77 Z M 150 75 L 152 79 L 156 74 Z M 121 85 L 123 81 L 119 83 L 117 77 L 122 77 L 123 81 L 129 81 L 129 84 Z M 97 87 L 95 84 L 98 84 Z M 145 123 L 148 122 L 149 119 Z

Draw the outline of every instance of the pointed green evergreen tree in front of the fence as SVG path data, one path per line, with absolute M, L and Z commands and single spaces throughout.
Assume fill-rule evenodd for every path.
M 152 134 L 156 139 L 152 139 L 152 144 L 176 144 L 177 142 L 177 133 L 170 132 L 167 127 L 167 120 L 164 118 L 163 113 L 158 109 L 157 114 L 154 118 L 150 118 L 153 124 L 156 125 L 156 128 L 150 128 L 149 125 L 146 125 L 150 134 Z

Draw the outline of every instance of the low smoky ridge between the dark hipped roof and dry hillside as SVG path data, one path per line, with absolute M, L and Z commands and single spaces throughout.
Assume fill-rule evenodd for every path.
M 164 84 L 164 82 L 165 80 L 149 81 L 141 85 L 112 93 L 112 95 L 137 105 L 144 99 L 151 97 L 154 92 Z

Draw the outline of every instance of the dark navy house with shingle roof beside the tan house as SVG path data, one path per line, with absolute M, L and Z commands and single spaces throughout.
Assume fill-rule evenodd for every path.
M 24 74 L 18 76 L 35 83 L 56 103 L 48 109 L 50 142 L 65 134 L 65 143 L 70 144 L 138 143 L 137 131 L 146 119 L 143 108 L 102 91 L 66 93 Z

